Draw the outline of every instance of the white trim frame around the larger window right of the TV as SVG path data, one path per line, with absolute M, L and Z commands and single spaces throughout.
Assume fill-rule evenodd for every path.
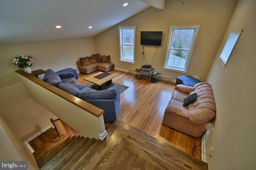
M 164 70 L 170 70 L 170 71 L 176 71 L 176 72 L 180 72 L 180 73 L 187 73 L 187 70 L 188 70 L 188 65 L 190 63 L 190 59 L 191 59 L 191 55 L 193 53 L 193 49 L 194 49 L 194 45 L 196 43 L 196 38 L 197 38 L 197 34 L 198 34 L 198 31 L 199 31 L 199 28 L 201 26 L 200 25 L 196 25 L 196 26 L 169 26 L 169 35 L 168 35 L 168 41 L 167 41 L 167 46 L 166 46 L 166 52 L 165 52 L 165 57 L 164 57 L 164 66 L 162 69 Z M 166 59 L 167 59 L 167 55 L 168 55 L 168 51 L 170 49 L 170 38 L 171 38 L 171 34 L 172 34 L 172 28 L 196 28 L 196 31 L 195 31 L 195 34 L 194 34 L 194 37 L 193 37 L 193 42 L 191 44 L 191 48 L 190 48 L 190 53 L 189 55 L 187 56 L 187 60 L 186 60 L 186 67 L 185 69 L 176 69 L 176 68 L 168 68 L 168 67 L 165 67 L 166 66 Z

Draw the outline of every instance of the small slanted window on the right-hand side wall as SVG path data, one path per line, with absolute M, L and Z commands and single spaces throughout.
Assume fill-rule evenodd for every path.
M 228 59 L 236 45 L 239 36 L 242 34 L 242 31 L 243 30 L 230 30 L 228 39 L 226 40 L 222 52 L 219 55 L 219 60 L 223 67 L 226 67 Z

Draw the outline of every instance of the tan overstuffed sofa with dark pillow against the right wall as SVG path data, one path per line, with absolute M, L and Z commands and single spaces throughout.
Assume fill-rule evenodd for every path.
M 196 100 L 190 101 L 188 106 L 183 106 L 184 98 L 193 94 Z M 215 117 L 215 111 L 215 101 L 210 84 L 201 82 L 194 87 L 176 85 L 172 99 L 164 112 L 162 124 L 191 136 L 200 137 Z

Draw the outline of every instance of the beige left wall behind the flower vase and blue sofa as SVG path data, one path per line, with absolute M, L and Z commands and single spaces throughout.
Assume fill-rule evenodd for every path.
M 68 67 L 78 70 L 76 61 L 93 53 L 96 53 L 94 38 L 0 44 L 0 77 L 19 69 L 11 59 L 21 54 L 34 58 L 32 71 L 49 68 L 59 71 Z

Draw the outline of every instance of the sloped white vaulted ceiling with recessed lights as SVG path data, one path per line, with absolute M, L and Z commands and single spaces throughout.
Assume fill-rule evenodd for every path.
M 0 43 L 93 37 L 150 6 L 163 9 L 164 2 L 0 0 Z M 58 25 L 62 27 L 55 28 Z

